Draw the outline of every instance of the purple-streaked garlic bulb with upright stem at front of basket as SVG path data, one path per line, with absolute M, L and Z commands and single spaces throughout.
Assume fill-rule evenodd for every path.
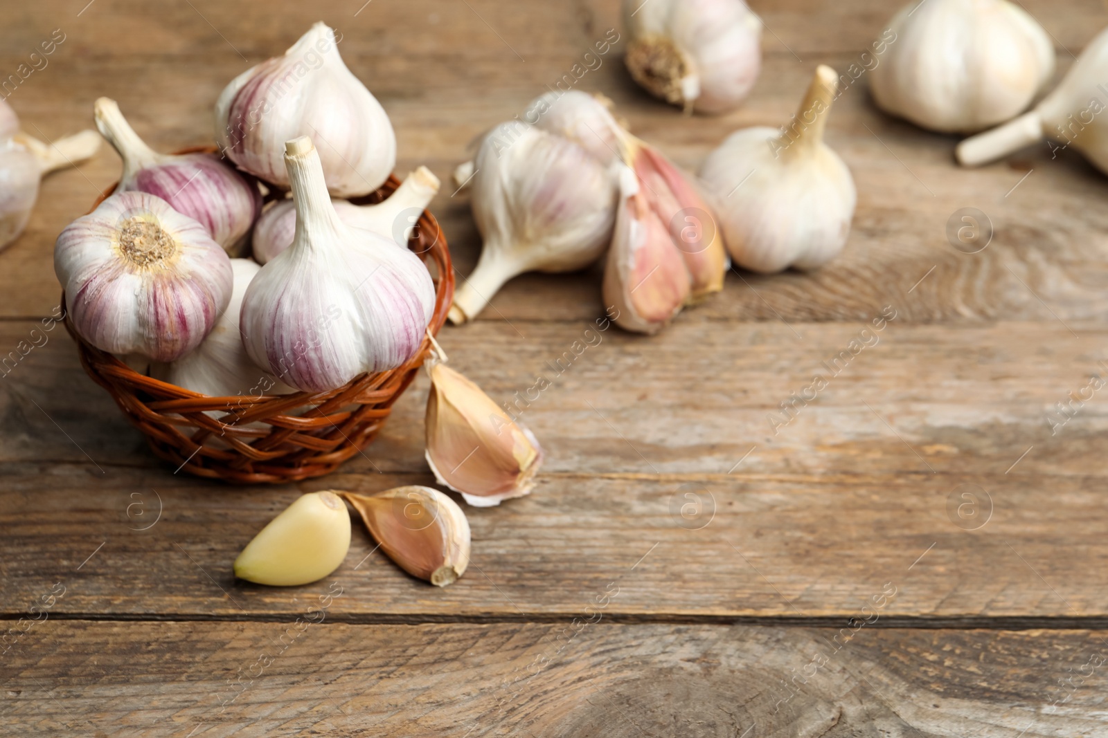
M 250 282 L 239 328 L 258 366 L 297 389 L 327 392 L 416 355 L 434 283 L 414 253 L 339 219 L 310 138 L 286 149 L 296 236 Z

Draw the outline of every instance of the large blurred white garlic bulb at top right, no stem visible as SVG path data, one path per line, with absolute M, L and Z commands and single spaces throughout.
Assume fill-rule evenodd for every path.
M 912 0 L 873 44 L 878 106 L 942 133 L 973 133 L 1023 112 L 1054 74 L 1054 45 L 1007 0 Z

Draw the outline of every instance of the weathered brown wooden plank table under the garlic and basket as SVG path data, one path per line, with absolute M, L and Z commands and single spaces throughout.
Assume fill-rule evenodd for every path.
M 90 126 L 107 95 L 156 148 L 207 143 L 227 81 L 322 19 L 392 117 L 398 171 L 444 183 L 618 27 L 615 0 L 85 2 L 6 8 L 2 76 L 64 33 L 10 97 L 31 134 Z M 847 69 L 893 11 L 753 6 L 765 67 L 733 114 L 647 97 L 623 42 L 579 89 L 695 168 L 730 131 L 783 123 L 815 64 Z M 1108 21 L 1092 0 L 1026 7 L 1059 71 Z M 864 79 L 828 139 L 859 191 L 844 253 L 811 276 L 733 272 L 656 337 L 606 332 L 527 409 L 538 486 L 466 510 L 472 564 L 444 590 L 360 530 L 318 584 L 232 574 L 300 492 L 433 482 L 425 377 L 339 474 L 239 489 L 157 461 L 47 333 L 0 380 L 0 604 L 18 633 L 0 734 L 1108 736 L 1108 391 L 1047 422 L 1106 371 L 1108 181 L 1045 145 L 960 169 L 955 138 L 882 115 Z M 117 173 L 105 148 L 43 185 L 0 254 L 0 354 L 54 311 L 54 237 Z M 480 240 L 452 191 L 433 210 L 465 274 Z M 966 207 L 994 230 L 972 254 L 946 237 Z M 599 271 L 524 277 L 494 305 L 441 342 L 504 399 L 601 314 Z M 774 433 L 780 403 L 886 305 L 879 343 Z

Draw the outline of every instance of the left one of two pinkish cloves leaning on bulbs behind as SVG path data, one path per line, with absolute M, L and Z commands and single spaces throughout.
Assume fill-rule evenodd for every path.
M 629 168 L 619 178 L 615 235 L 604 269 L 604 304 L 616 309 L 616 324 L 657 333 L 693 295 L 681 252 Z

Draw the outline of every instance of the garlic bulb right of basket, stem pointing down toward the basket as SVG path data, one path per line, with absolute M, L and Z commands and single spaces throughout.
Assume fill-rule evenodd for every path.
M 454 293 L 453 323 L 476 318 L 517 274 L 584 269 L 604 252 L 615 221 L 612 174 L 562 136 L 503 123 L 482 142 L 474 166 L 473 219 L 484 246 Z

